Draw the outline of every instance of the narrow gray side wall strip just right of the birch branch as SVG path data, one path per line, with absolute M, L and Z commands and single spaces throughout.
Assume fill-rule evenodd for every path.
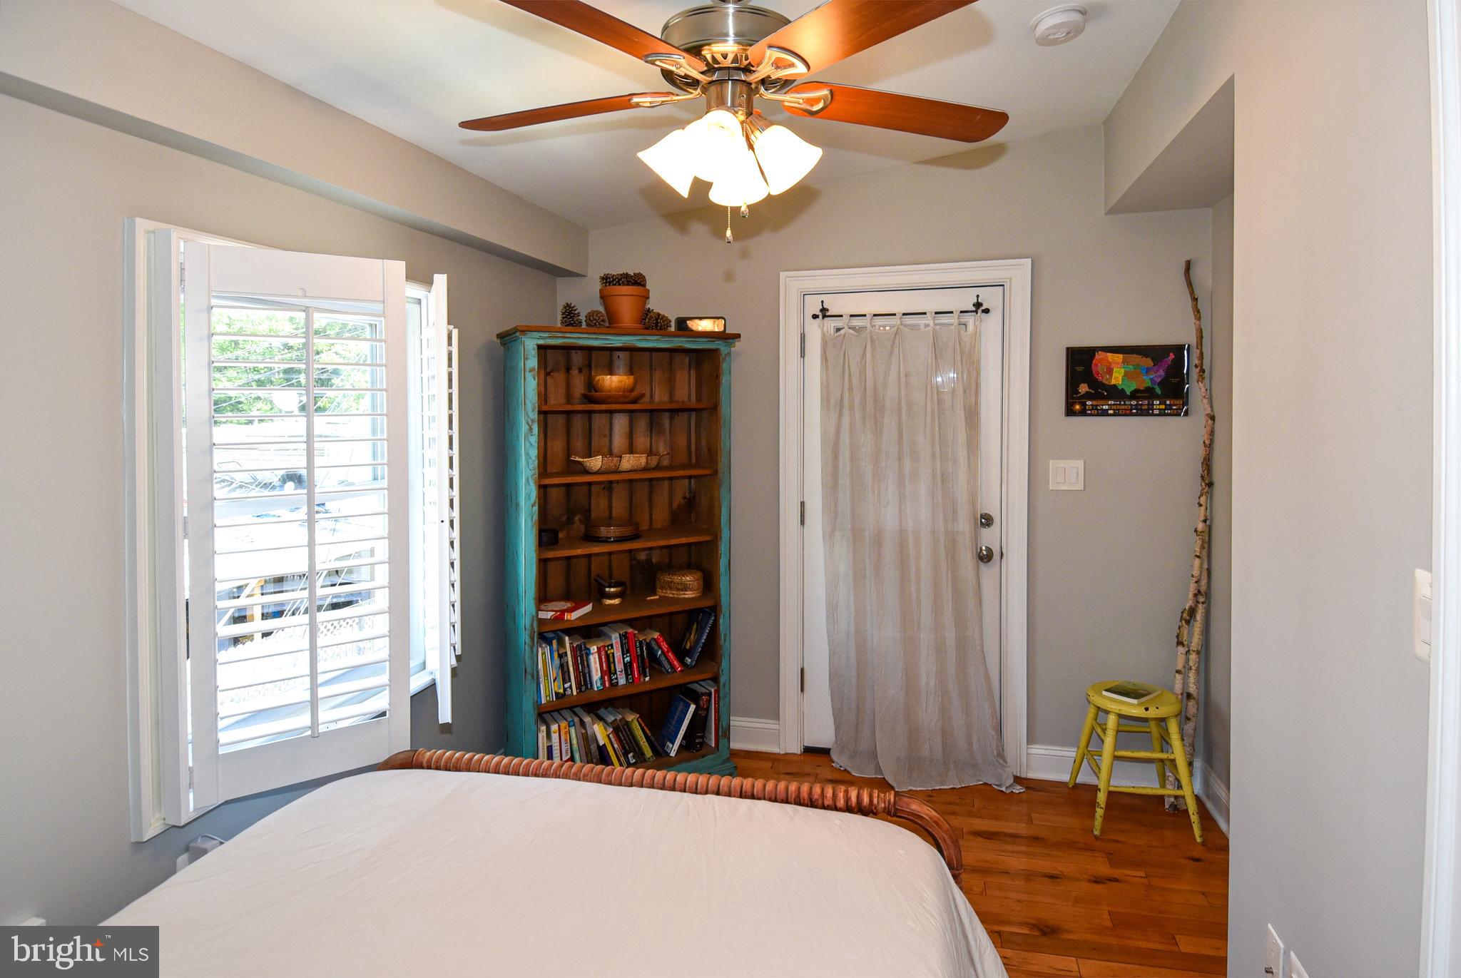
M 1230 779 L 1233 649 L 1233 199 L 1213 205 L 1213 300 L 1207 316 L 1208 371 L 1213 392 L 1213 526 L 1207 592 L 1207 651 L 1202 655 L 1202 706 L 1198 754 L 1208 778 Z

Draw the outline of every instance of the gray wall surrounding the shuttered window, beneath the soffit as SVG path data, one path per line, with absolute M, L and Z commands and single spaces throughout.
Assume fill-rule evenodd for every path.
M 123 219 L 142 216 L 301 251 L 403 259 L 451 276 L 462 329 L 465 652 L 459 721 L 415 697 L 412 741 L 501 744 L 500 348 L 549 316 L 554 279 L 481 251 L 28 102 L 0 96 L 0 921 L 99 920 L 300 791 L 222 805 L 129 842 L 123 651 Z M 495 643 L 492 643 L 495 645 Z

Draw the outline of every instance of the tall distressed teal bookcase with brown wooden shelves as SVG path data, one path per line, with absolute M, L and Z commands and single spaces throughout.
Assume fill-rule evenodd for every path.
M 678 687 L 713 680 L 720 687 L 720 737 L 710 748 L 652 762 L 709 773 L 735 773 L 730 762 L 730 348 L 738 333 L 655 332 L 517 326 L 503 344 L 507 415 L 507 753 L 538 751 L 538 715 L 555 709 L 617 706 L 640 713 L 655 731 Z M 638 403 L 589 403 L 598 374 L 633 374 Z M 662 453 L 655 469 L 590 475 L 571 456 Z M 589 519 L 633 519 L 640 537 L 583 539 Z M 558 542 L 539 545 L 539 529 Z M 695 567 L 697 598 L 655 595 L 655 573 Z M 595 575 L 630 585 L 618 605 L 602 604 Z M 574 621 L 539 621 L 538 604 L 555 598 L 593 601 Z M 684 672 L 652 671 L 646 683 L 619 686 L 539 706 L 538 632 L 592 632 L 622 621 L 655 629 L 678 649 L 691 618 L 716 610 L 700 661 Z

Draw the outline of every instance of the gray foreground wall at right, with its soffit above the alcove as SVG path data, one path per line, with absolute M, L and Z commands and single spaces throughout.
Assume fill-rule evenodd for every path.
M 1419 969 L 1427 66 L 1416 0 L 1189 1 L 1105 127 L 1116 200 L 1235 82 L 1233 975 L 1270 922 L 1312 975 Z

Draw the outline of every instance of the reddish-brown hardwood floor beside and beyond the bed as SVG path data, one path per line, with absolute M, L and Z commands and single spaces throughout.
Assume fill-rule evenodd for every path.
M 730 751 L 741 775 L 871 784 L 825 754 Z M 1202 811 L 1205 845 L 1185 813 L 1115 794 L 1091 835 L 1096 788 L 1021 781 L 910 792 L 960 833 L 964 895 L 1010 978 L 1179 978 L 1227 972 L 1227 836 Z M 900 823 L 904 825 L 904 823 Z

